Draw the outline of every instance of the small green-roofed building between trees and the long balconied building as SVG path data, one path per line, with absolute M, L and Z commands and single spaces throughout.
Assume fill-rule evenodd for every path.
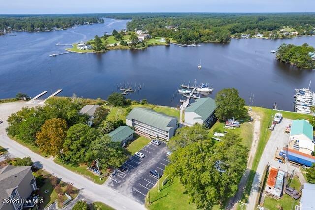
M 124 147 L 127 142 L 133 140 L 134 131 L 128 126 L 119 126 L 114 131 L 110 132 L 108 136 L 114 142 L 120 142 L 121 146 Z

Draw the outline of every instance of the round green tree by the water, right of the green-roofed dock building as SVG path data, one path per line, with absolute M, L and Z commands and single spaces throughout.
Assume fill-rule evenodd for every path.
M 217 105 L 215 115 L 219 120 L 246 117 L 245 101 L 235 88 L 222 89 L 217 93 L 215 101 Z

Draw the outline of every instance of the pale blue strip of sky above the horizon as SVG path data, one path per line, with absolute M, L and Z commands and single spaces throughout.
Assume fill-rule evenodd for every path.
M 315 12 L 315 0 L 0 0 L 0 14 Z

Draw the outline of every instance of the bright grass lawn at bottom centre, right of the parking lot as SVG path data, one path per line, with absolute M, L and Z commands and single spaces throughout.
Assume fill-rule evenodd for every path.
M 196 210 L 194 204 L 189 204 L 189 195 L 185 194 L 185 189 L 178 179 L 173 183 L 167 182 L 164 186 L 160 183 L 161 191 L 158 192 L 158 185 L 150 190 L 149 204 L 148 196 L 146 197 L 146 207 L 150 210 Z

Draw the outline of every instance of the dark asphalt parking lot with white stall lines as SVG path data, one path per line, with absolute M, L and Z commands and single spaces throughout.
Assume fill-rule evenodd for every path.
M 169 161 L 166 155 L 166 143 L 164 142 L 159 146 L 149 143 L 140 152 L 145 155 L 144 158 L 131 156 L 123 164 L 129 170 L 121 172 L 116 169 L 106 185 L 144 204 L 149 189 L 158 182 L 158 179 L 150 175 L 149 171 L 156 170 L 160 175 L 163 175 L 165 166 L 169 164 Z

